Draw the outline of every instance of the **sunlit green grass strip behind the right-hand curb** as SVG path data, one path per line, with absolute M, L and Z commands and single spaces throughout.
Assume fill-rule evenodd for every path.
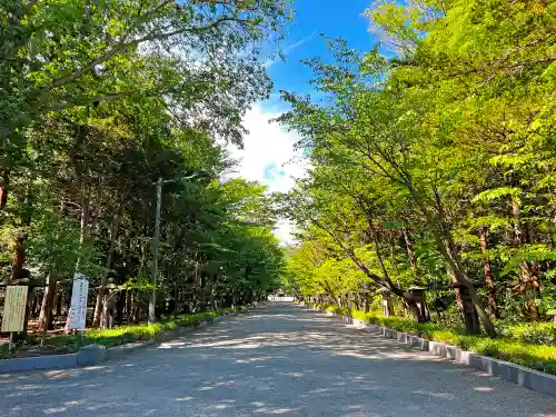
M 348 310 L 347 308 L 335 306 L 317 307 L 327 311 L 350 316 L 369 324 L 418 335 L 428 340 L 454 345 L 476 354 L 556 375 L 556 347 L 549 344 L 528 342 L 535 338 L 535 332 L 532 330 L 534 326 L 532 325 L 520 325 L 525 328 L 523 331 L 518 331 L 517 327 L 508 327 L 506 331 L 500 331 L 500 337 L 490 339 L 486 336 L 467 335 L 461 329 L 443 328 L 435 324 L 417 324 L 415 320 L 405 317 L 384 317 L 377 312 Z M 554 328 L 553 324 L 536 325 L 540 325 L 543 331 L 547 334 L 549 334 L 547 329 Z M 513 338 L 508 335 L 515 335 L 515 337 Z M 540 340 L 545 339 L 540 338 Z

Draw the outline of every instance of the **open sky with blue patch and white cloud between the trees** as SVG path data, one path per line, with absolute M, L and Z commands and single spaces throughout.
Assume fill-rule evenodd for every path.
M 269 100 L 259 102 L 245 116 L 244 126 L 249 131 L 244 149 L 231 148 L 234 158 L 240 161 L 236 175 L 268 186 L 269 191 L 288 191 L 296 178 L 308 169 L 294 150 L 296 132 L 287 132 L 269 121 L 288 109 L 279 98 L 280 90 L 310 93 L 311 71 L 299 61 L 305 58 L 328 56 L 320 33 L 329 38 L 342 38 L 350 48 L 361 52 L 374 44 L 368 32 L 368 20 L 363 12 L 373 0 L 294 0 L 296 19 L 290 23 L 286 39 L 280 44 L 285 61 L 265 61 L 275 83 Z M 276 48 L 276 46 L 275 46 Z M 291 225 L 281 222 L 276 235 L 289 242 Z

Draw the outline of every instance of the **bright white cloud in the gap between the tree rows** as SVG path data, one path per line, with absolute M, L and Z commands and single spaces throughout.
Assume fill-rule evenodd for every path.
M 299 136 L 270 122 L 279 116 L 276 109 L 268 110 L 262 105 L 256 105 L 246 113 L 244 126 L 249 135 L 244 139 L 244 149 L 228 147 L 231 157 L 239 161 L 235 172 L 228 177 L 258 181 L 266 185 L 269 192 L 289 191 L 295 187 L 296 178 L 305 177 L 308 165 L 294 149 Z M 291 230 L 292 225 L 280 221 L 275 234 L 284 244 L 289 244 Z

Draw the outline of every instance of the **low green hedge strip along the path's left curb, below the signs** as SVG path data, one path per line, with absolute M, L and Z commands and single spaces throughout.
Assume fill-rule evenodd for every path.
M 111 329 L 88 329 L 85 335 L 57 335 L 46 339 L 44 346 L 39 347 L 29 339 L 19 349 L 10 353 L 7 345 L 0 346 L 0 360 L 11 358 L 34 357 L 41 355 L 63 355 L 77 353 L 88 345 L 98 345 L 105 348 L 125 346 L 133 342 L 149 342 L 177 336 L 185 329 L 196 328 L 206 322 L 212 322 L 217 317 L 237 315 L 248 311 L 249 307 L 236 307 L 217 311 L 197 312 L 176 316 L 155 324 L 118 326 Z

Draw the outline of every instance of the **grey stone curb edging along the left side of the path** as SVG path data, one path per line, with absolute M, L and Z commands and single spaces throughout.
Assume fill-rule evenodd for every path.
M 250 310 L 250 309 L 249 309 Z M 244 311 L 242 311 L 244 312 Z M 235 317 L 238 312 L 225 314 L 215 317 L 212 320 L 203 320 L 195 327 L 180 327 L 176 330 L 162 331 L 156 339 L 136 341 L 121 346 L 107 348 L 99 345 L 88 345 L 81 347 L 76 354 L 36 356 L 29 358 L 1 359 L 0 373 L 14 373 L 22 370 L 60 369 L 75 368 L 78 366 L 96 366 L 106 360 L 117 359 L 128 353 L 161 342 L 171 340 L 178 336 L 207 327 L 212 322 L 221 321 L 226 317 Z

